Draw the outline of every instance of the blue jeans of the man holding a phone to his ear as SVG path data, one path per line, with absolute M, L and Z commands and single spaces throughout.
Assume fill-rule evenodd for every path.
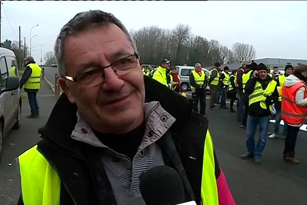
M 270 116 L 257 117 L 248 115 L 247 117 L 247 133 L 246 147 L 247 152 L 255 157 L 260 157 L 267 143 L 267 133 L 269 128 Z M 255 134 L 257 125 L 259 125 L 259 140 L 255 147 Z

